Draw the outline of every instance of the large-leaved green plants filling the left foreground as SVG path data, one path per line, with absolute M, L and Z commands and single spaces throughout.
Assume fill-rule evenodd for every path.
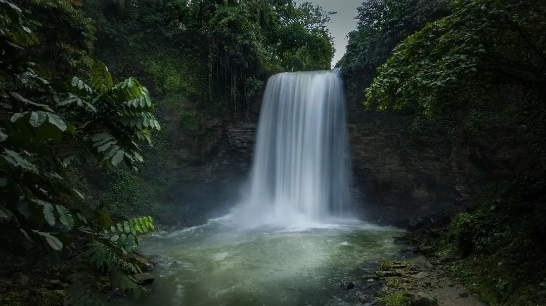
M 37 11 L 74 13 L 68 1 L 34 4 Z M 108 219 L 87 221 L 57 200 L 69 196 L 84 201 L 67 181 L 70 164 L 95 159 L 138 170 L 143 157 L 137 142 L 151 145 L 150 131 L 160 129 L 149 93 L 133 77 L 114 84 L 101 63 L 69 82 L 46 80 L 39 74 L 45 67 L 29 63 L 35 55 L 27 51 L 38 43 L 38 36 L 27 25 L 38 23 L 28 15 L 0 1 L 0 249 L 31 261 L 44 255 L 46 260 L 79 257 L 82 272 L 74 278 L 69 305 L 102 301 L 94 295 L 94 277 L 102 274 L 110 275 L 122 290 L 136 293 L 140 287 L 127 274 L 139 268 L 123 255 L 138 245 L 137 235 L 155 228 L 153 220 L 135 218 L 115 227 L 108 224 L 110 230 L 104 230 Z M 76 38 L 79 35 L 86 33 Z

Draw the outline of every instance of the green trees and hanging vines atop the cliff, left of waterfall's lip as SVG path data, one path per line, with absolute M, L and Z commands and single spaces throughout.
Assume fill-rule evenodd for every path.
M 91 0 L 84 9 L 105 61 L 214 116 L 248 112 L 270 74 L 330 69 L 334 55 L 326 27 L 334 12 L 309 2 L 145 0 L 121 9 Z

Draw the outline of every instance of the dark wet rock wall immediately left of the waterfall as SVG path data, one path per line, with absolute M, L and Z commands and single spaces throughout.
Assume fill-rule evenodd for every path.
M 173 121 L 165 125 L 173 139 L 168 140 L 162 171 L 174 182 L 162 201 L 173 209 L 158 215 L 158 221 L 183 227 L 227 213 L 245 189 L 257 124 L 252 119 L 211 119 L 198 131 L 184 131 Z

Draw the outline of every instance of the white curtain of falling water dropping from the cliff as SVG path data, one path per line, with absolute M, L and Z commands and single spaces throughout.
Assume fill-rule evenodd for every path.
M 346 217 L 350 196 L 345 116 L 339 69 L 270 77 L 250 195 L 236 208 L 241 226 L 312 227 Z

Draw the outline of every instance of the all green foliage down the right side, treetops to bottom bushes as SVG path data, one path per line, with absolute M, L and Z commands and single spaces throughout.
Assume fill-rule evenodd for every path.
M 365 84 L 376 75 L 370 68 L 389 56 L 364 105 L 413 112 L 413 136 L 448 138 L 454 150 L 467 150 L 465 179 L 481 196 L 456 215 L 441 246 L 459 256 L 456 275 L 493 305 L 544 304 L 544 173 L 522 175 L 544 169 L 546 5 L 456 0 L 449 15 L 418 26 L 405 3 L 364 3 L 340 65 Z M 419 31 L 399 31 L 391 21 Z M 391 29 L 393 37 L 410 35 L 390 55 L 389 47 L 374 49 L 374 41 L 397 40 Z

